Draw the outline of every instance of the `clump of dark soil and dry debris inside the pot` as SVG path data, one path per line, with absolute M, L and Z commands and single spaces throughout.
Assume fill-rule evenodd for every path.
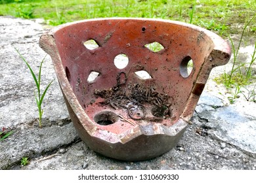
M 167 94 L 157 92 L 154 86 L 117 84 L 112 88 L 95 90 L 95 95 L 104 99 L 100 102 L 101 105 L 110 105 L 115 110 L 125 108 L 133 120 L 161 122 L 171 117 L 169 111 L 170 97 Z M 151 110 L 146 110 L 148 108 Z

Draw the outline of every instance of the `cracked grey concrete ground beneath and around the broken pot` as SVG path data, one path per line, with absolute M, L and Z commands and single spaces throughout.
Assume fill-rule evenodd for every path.
M 45 29 L 37 21 L 0 16 L 0 127 L 13 131 L 0 142 L 0 169 L 256 169 L 255 103 L 226 105 L 212 92 L 212 82 L 175 148 L 147 161 L 117 161 L 96 154 L 79 139 L 47 56 L 42 86 L 54 82 L 39 128 L 33 78 L 14 50 L 38 69 L 45 56 L 38 41 Z M 30 163 L 20 166 L 22 157 Z

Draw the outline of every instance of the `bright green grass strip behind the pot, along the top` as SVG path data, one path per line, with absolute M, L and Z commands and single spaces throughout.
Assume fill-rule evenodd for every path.
M 244 22 L 255 9 L 254 0 L 0 0 L 1 15 L 44 18 L 51 25 L 105 17 L 164 18 L 200 25 L 221 35 L 236 32 L 230 25 Z

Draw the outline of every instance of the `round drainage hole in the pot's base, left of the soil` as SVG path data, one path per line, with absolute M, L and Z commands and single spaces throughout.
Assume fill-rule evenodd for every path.
M 114 112 L 104 111 L 96 114 L 94 120 L 99 125 L 111 125 L 117 122 L 118 116 Z

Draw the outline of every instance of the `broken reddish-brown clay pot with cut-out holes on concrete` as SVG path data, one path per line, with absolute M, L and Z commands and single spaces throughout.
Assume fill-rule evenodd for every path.
M 54 64 L 79 137 L 128 161 L 181 139 L 213 67 L 230 59 L 215 33 L 182 22 L 101 18 L 54 27 L 39 45 Z

